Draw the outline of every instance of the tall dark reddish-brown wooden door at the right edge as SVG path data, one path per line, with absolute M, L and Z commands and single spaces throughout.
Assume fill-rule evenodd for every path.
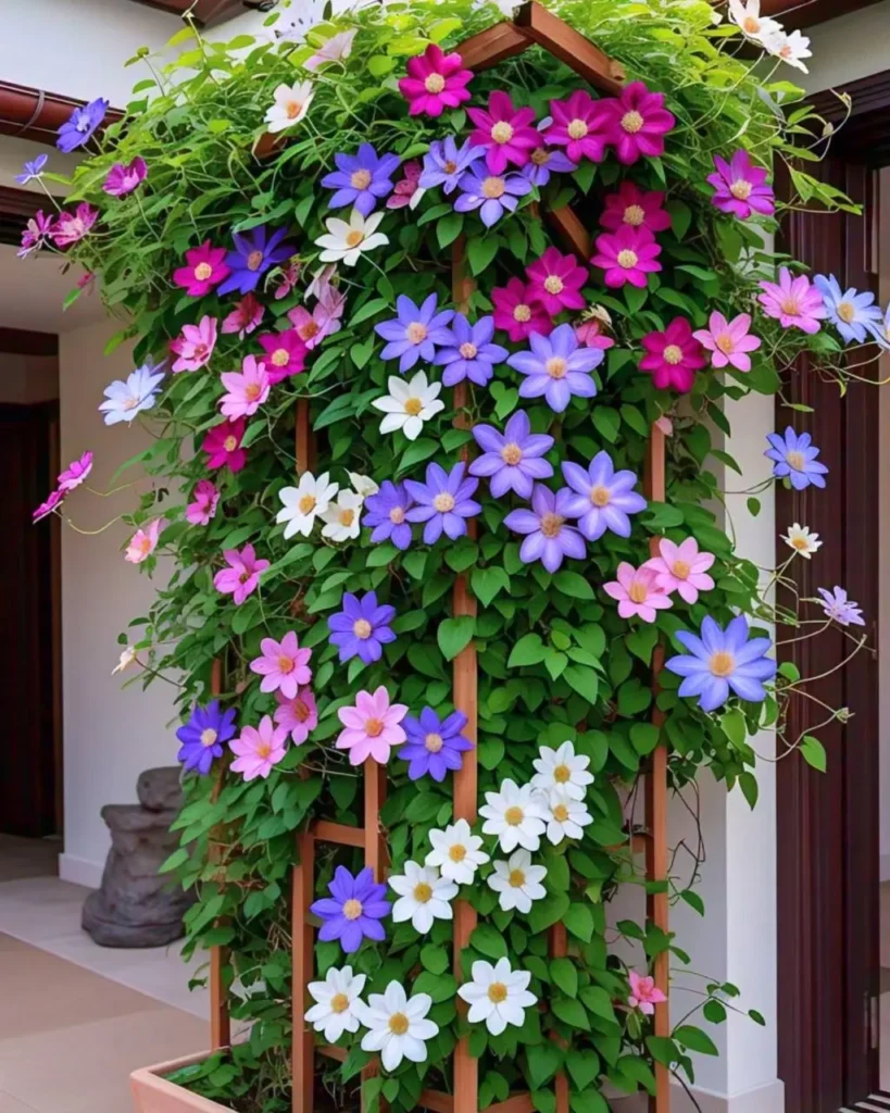
M 873 247 L 877 176 L 846 157 L 821 167 L 825 180 L 864 205 L 861 217 L 793 214 L 785 226 L 789 253 L 813 273 L 842 285 L 877 290 Z M 862 356 L 858 356 L 858 361 Z M 867 372 L 878 377 L 877 362 Z M 860 371 L 860 374 L 862 371 Z M 809 677 L 808 690 L 832 708 L 849 708 L 820 737 L 828 774 L 797 755 L 779 762 L 779 1073 L 788 1113 L 835 1113 L 877 1090 L 879 982 L 879 722 L 878 722 L 878 390 L 853 384 L 840 397 L 801 361 L 777 402 L 777 427 L 812 433 L 830 474 L 824 491 L 780 489 L 777 526 L 815 530 L 823 546 L 811 561 L 795 560 L 802 597 L 818 588 L 847 588 L 868 619 L 870 649 L 834 671 L 853 642 L 840 631 L 798 642 L 780 653 Z M 780 543 L 781 545 L 781 543 Z M 780 554 L 781 559 L 781 554 Z M 819 617 L 815 609 L 811 617 Z M 857 628 L 850 628 L 859 633 Z M 788 637 L 788 633 L 784 634 Z M 793 651 L 791 651 L 793 650 Z M 823 721 L 824 708 L 792 703 L 787 735 L 797 738 Z M 873 1009 L 876 1009 L 873 1012 Z

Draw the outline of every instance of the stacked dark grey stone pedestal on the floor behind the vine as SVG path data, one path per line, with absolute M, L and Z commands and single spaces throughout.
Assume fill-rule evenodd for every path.
M 175 878 L 158 875 L 176 849 L 170 831 L 182 806 L 179 769 L 148 769 L 137 784 L 139 804 L 108 804 L 102 819 L 111 849 L 102 884 L 83 903 L 82 927 L 102 947 L 160 947 L 182 936 L 194 902 Z

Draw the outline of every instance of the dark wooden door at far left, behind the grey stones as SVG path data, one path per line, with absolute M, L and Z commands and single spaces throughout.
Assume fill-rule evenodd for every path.
M 56 831 L 52 544 L 31 524 L 55 483 L 57 406 L 0 405 L 0 831 Z

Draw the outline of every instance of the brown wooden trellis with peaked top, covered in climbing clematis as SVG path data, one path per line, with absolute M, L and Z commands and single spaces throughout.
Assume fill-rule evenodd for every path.
M 537 3 L 525 3 L 515 13 L 514 20 L 504 21 L 462 43 L 459 51 L 467 69 L 479 71 L 490 69 L 506 58 L 514 57 L 532 46 L 541 46 L 555 58 L 570 66 L 586 82 L 606 95 L 621 90 L 624 73 L 622 68 L 607 58 L 597 47 L 562 20 Z M 570 208 L 544 215 L 556 235 L 583 263 L 592 254 L 591 237 L 583 224 Z M 458 311 L 466 311 L 474 284 L 465 272 L 463 238 L 453 248 L 452 293 Z M 468 414 L 468 390 L 465 383 L 454 390 L 455 424 L 466 426 Z M 310 467 L 314 462 L 315 445 L 309 422 L 307 400 L 300 400 L 296 410 L 296 456 L 297 471 Z M 652 429 L 646 453 L 644 490 L 651 502 L 664 501 L 664 437 L 657 427 Z M 468 523 L 471 530 L 475 523 Z M 653 539 L 652 551 L 656 551 L 657 540 Z M 455 580 L 452 597 L 452 613 L 475 614 L 476 601 L 472 595 L 466 575 Z M 653 657 L 654 674 L 663 662 L 663 649 L 656 647 Z M 467 719 L 466 736 L 476 741 L 478 727 L 477 662 L 475 646 L 471 642 L 455 658 L 453 664 L 454 705 Z M 219 674 L 215 670 L 215 690 L 219 687 Z M 653 722 L 661 726 L 663 717 L 655 710 Z M 316 1047 L 312 1027 L 304 1021 L 304 1013 L 310 1001 L 307 984 L 314 976 L 315 929 L 309 922 L 308 908 L 315 889 L 315 847 L 317 843 L 349 846 L 364 849 L 365 865 L 372 867 L 377 881 L 385 879 L 386 845 L 380 825 L 379 811 L 385 799 L 385 769 L 368 760 L 364 766 L 364 827 L 349 827 L 327 819 L 319 819 L 313 827 L 297 836 L 297 864 L 293 871 L 293 1113 L 312 1113 L 315 1083 L 315 1054 L 345 1060 L 340 1047 Z M 477 817 L 478 766 L 476 750 L 464 755 L 463 768 L 454 776 L 454 818 L 466 819 L 471 825 Z M 656 747 L 651 758 L 646 776 L 645 791 L 645 861 L 646 879 L 666 881 L 668 878 L 668 754 L 664 745 Z M 668 893 L 657 893 L 647 898 L 646 917 L 662 932 L 668 932 Z M 465 900 L 455 903 L 454 909 L 454 956 L 453 971 L 457 981 L 463 979 L 462 953 L 469 945 L 469 936 L 476 926 L 476 914 Z M 551 957 L 562 957 L 568 952 L 565 927 L 554 925 L 548 933 Z M 214 1048 L 229 1042 L 229 1018 L 222 984 L 222 968 L 227 962 L 224 948 L 214 948 L 210 963 L 211 989 L 211 1044 Z M 668 994 L 668 955 L 655 961 L 654 977 L 657 987 Z M 668 1004 L 657 1005 L 654 1020 L 655 1034 L 670 1035 Z M 363 1077 L 376 1073 L 376 1065 L 363 1072 Z M 656 1094 L 651 1099 L 651 1113 L 670 1113 L 670 1075 L 666 1068 L 656 1064 Z M 564 1075 L 555 1080 L 556 1111 L 568 1113 L 568 1081 Z M 478 1109 L 478 1061 L 469 1054 L 467 1040 L 461 1040 L 453 1058 L 453 1093 L 424 1091 L 418 1107 L 434 1113 L 476 1113 Z M 532 1096 L 528 1093 L 512 1094 L 506 1101 L 488 1106 L 490 1113 L 532 1113 Z

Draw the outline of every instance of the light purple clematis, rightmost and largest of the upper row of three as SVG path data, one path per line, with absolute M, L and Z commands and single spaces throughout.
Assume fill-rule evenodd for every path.
M 572 325 L 558 325 L 550 336 L 532 333 L 528 337 L 531 352 L 516 352 L 508 359 L 525 382 L 520 386 L 523 398 L 540 398 L 542 395 L 555 413 L 561 414 L 572 395 L 592 398 L 596 394 L 596 383 L 591 372 L 605 358 L 602 348 L 580 347 Z

